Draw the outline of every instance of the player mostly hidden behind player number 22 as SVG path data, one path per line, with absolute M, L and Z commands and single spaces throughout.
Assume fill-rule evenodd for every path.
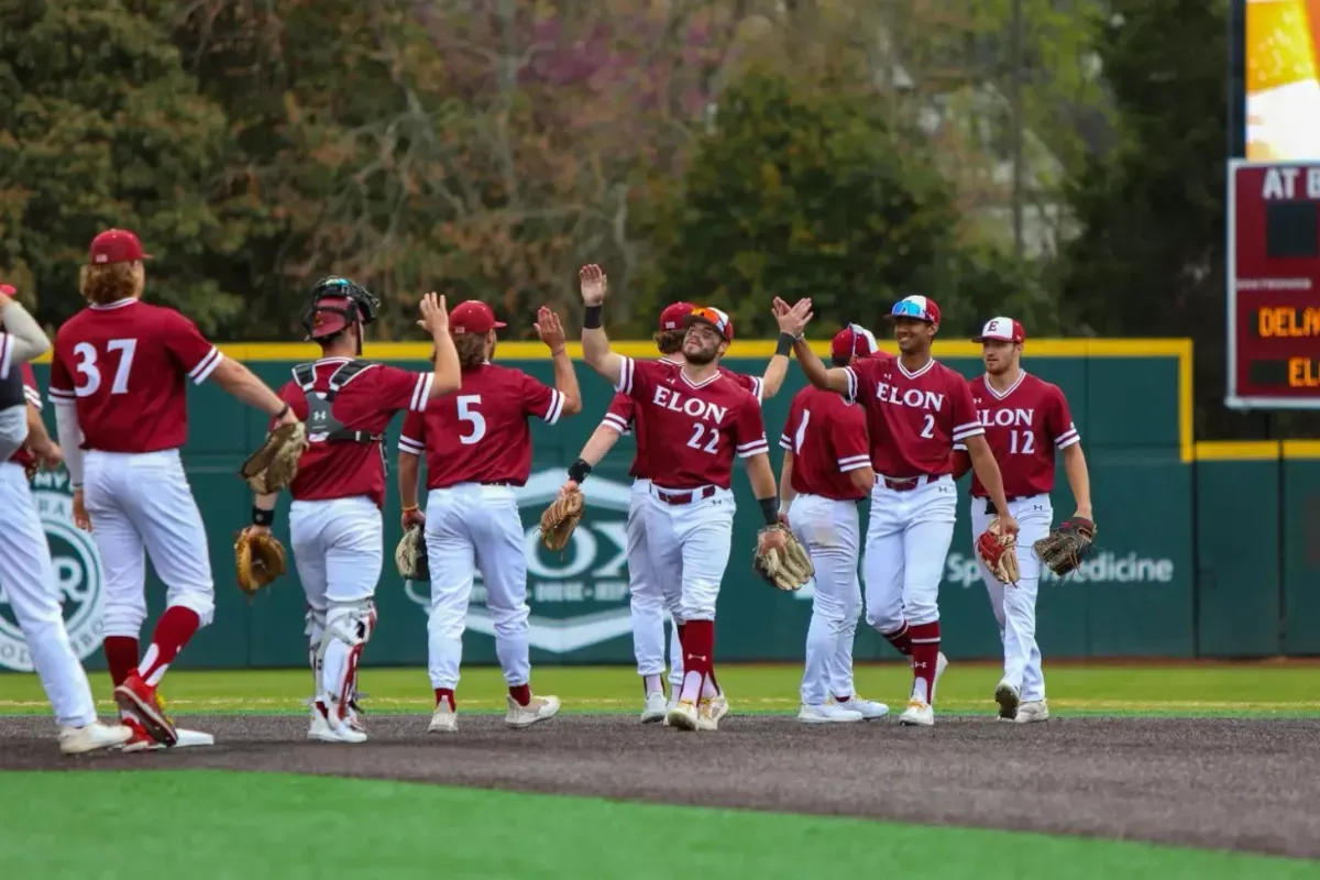
M 694 305 L 690 302 L 675 302 L 665 306 L 660 313 L 660 329 L 656 332 L 656 347 L 660 358 L 656 363 L 668 364 L 672 369 L 682 368 L 682 340 L 686 335 L 685 321 L 692 314 Z M 788 373 L 788 356 L 775 354 L 766 367 L 764 377 L 746 376 L 723 367 L 719 372 L 733 381 L 750 391 L 758 400 L 767 400 L 779 393 Z M 616 393 L 610 401 L 601 426 L 595 429 L 591 438 L 582 447 L 582 454 L 570 467 L 572 474 L 585 476 L 614 447 L 619 437 L 632 434 L 636 416 L 636 404 L 627 394 Z M 628 475 L 634 478 L 632 499 L 628 504 L 627 520 L 627 555 L 628 555 L 628 591 L 632 610 L 632 650 L 638 660 L 638 674 L 642 676 L 644 703 L 642 707 L 642 723 L 663 720 L 665 714 L 678 702 L 678 691 L 682 689 L 682 648 L 678 639 L 678 628 L 671 631 L 669 637 L 669 699 L 664 694 L 664 665 L 665 665 L 665 639 L 664 639 L 664 591 L 651 577 L 651 563 L 647 557 L 645 538 L 645 511 L 647 495 L 651 484 L 649 464 L 642 435 L 636 435 L 636 451 L 632 458 L 632 467 Z M 672 612 L 673 610 L 668 610 Z

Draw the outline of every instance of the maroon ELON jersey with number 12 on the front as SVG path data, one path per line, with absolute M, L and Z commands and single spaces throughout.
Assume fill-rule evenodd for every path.
M 999 463 L 1006 497 L 1045 495 L 1055 488 L 1055 450 L 1081 442 L 1064 392 L 1023 372 L 1002 394 L 985 376 L 968 383 L 986 442 Z M 972 495 L 990 497 L 972 475 Z

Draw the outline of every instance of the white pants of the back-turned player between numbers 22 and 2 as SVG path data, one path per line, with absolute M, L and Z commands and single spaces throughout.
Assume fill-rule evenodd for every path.
M 808 706 L 821 706 L 828 697 L 853 695 L 853 641 L 862 616 L 858 521 L 855 503 L 820 495 L 799 495 L 788 508 L 788 525 L 816 566 L 801 685 L 803 703 Z

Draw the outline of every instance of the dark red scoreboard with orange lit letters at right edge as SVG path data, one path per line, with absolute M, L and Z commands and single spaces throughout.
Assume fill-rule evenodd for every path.
M 1320 161 L 1229 162 L 1232 409 L 1320 409 Z

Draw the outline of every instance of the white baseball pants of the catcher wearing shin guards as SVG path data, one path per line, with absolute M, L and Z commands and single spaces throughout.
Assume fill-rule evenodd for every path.
M 317 674 L 317 694 L 337 699 L 362 650 L 343 639 L 325 633 L 358 632 L 356 621 L 368 616 L 366 603 L 376 595 L 384 565 L 384 521 L 380 508 L 366 496 L 325 501 L 293 501 L 289 505 L 289 538 L 293 563 L 308 598 L 309 656 Z M 367 633 L 370 636 L 370 632 Z

